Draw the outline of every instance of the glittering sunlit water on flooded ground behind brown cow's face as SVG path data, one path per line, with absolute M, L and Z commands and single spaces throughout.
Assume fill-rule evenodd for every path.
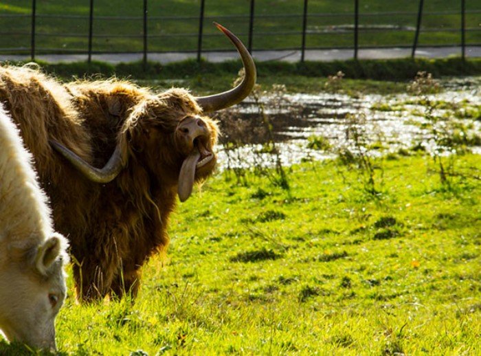
M 481 135 L 481 121 L 476 115 L 463 113 L 480 112 L 481 78 L 454 79 L 443 83 L 442 93 L 426 96 L 433 103 L 432 115 L 457 120 L 466 127 L 469 135 Z M 400 148 L 422 145 L 429 150 L 432 146 L 432 131 L 425 118 L 426 107 L 420 97 L 408 94 L 394 96 L 366 95 L 359 98 L 342 93 L 320 93 L 318 95 L 297 93 L 283 95 L 282 99 L 262 98 L 265 117 L 269 120 L 273 140 L 278 142 L 282 164 L 289 165 L 303 159 L 325 159 L 333 153 L 308 148 L 308 138 L 324 137 L 334 147 L 349 147 L 352 143 L 346 135 L 348 118 L 362 115 L 366 118 L 364 129 L 368 139 L 396 152 Z M 246 100 L 223 118 L 223 131 L 219 145 L 219 165 L 252 167 L 258 164 L 270 166 L 273 157 L 265 151 L 269 141 L 262 115 L 254 102 Z M 238 132 L 233 132 L 238 131 Z M 238 141 L 240 148 L 225 150 L 225 142 Z M 480 146 L 472 147 L 481 153 Z M 333 151 L 333 150 L 330 150 Z M 335 151 L 335 150 L 334 150 Z M 230 159 L 229 159 L 230 157 Z

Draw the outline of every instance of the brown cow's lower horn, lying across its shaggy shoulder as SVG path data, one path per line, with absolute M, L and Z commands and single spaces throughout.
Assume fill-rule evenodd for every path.
M 63 155 L 75 168 L 77 168 L 85 177 L 96 183 L 109 183 L 113 181 L 115 177 L 118 176 L 122 168 L 124 168 L 124 160 L 122 159 L 122 150 L 120 145 L 115 147 L 109 162 L 105 164 L 104 168 L 95 168 L 85 162 L 82 158 L 78 157 L 74 152 L 70 151 L 69 148 L 63 146 L 56 142 L 55 140 L 49 141 L 52 147 Z

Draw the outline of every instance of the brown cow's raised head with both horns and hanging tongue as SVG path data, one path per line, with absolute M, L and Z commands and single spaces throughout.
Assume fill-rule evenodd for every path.
M 242 42 L 225 27 L 216 24 L 234 43 L 243 61 L 245 76 L 240 84 L 212 96 L 195 98 L 183 89 L 170 89 L 137 104 L 124 123 L 111 159 L 104 168 L 94 168 L 62 144 L 52 146 L 92 181 L 115 179 L 135 155 L 144 160 L 157 177 L 177 184 L 179 199 L 185 201 L 194 181 L 204 179 L 214 169 L 218 129 L 205 113 L 238 104 L 256 83 L 256 66 Z

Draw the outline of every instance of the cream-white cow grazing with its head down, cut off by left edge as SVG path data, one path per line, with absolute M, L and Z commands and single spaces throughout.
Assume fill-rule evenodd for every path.
M 32 155 L 0 105 L 0 329 L 8 340 L 55 348 L 66 247 L 54 232 Z

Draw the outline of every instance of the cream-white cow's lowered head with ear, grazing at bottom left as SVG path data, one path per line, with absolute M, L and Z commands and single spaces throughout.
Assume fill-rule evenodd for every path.
M 0 328 L 10 341 L 55 348 L 54 321 L 65 299 L 65 238 L 10 246 L 0 267 Z

